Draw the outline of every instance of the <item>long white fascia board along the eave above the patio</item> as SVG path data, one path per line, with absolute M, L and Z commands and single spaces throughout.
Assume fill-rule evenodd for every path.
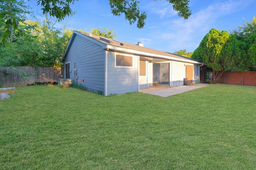
M 193 63 L 193 64 L 202 64 L 202 63 L 200 63 L 198 61 L 191 61 L 191 60 L 186 60 L 186 59 L 178 59 L 176 57 L 158 55 L 158 54 L 153 54 L 153 53 L 146 53 L 146 52 L 136 51 L 136 50 L 132 50 L 132 49 L 125 49 L 125 48 L 115 47 L 115 46 L 112 46 L 112 45 L 106 45 L 106 48 L 108 48 L 111 51 L 119 51 L 119 52 L 125 52 L 125 53 L 132 53 L 132 54 L 146 56 L 146 57 L 151 57 L 151 58 L 165 59 L 165 60 L 170 60 L 170 61 L 180 61 L 180 62 Z

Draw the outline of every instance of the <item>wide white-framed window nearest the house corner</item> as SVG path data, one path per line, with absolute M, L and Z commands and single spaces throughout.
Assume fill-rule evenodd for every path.
M 119 68 L 132 68 L 133 67 L 133 56 L 132 55 L 115 55 L 115 67 Z

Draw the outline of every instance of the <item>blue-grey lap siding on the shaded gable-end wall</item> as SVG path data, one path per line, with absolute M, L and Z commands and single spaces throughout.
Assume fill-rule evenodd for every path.
M 89 91 L 104 92 L 105 50 L 88 39 L 76 35 L 66 55 L 65 63 L 70 62 L 70 78 L 74 82 L 74 63 L 77 68 L 77 83 Z M 81 80 L 84 79 L 84 82 Z

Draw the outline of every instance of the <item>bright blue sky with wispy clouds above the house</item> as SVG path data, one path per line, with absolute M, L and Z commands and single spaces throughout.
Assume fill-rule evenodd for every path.
M 28 0 L 26 0 L 28 1 Z M 36 1 L 27 2 L 38 19 L 42 20 Z M 190 0 L 192 15 L 188 20 L 178 17 L 172 4 L 165 0 L 140 0 L 139 8 L 146 11 L 146 25 L 138 29 L 130 25 L 124 16 L 113 16 L 108 0 L 79 0 L 71 6 L 76 14 L 65 18 L 56 27 L 68 23 L 67 29 L 113 29 L 115 39 L 144 47 L 173 53 L 181 49 L 193 52 L 210 29 L 230 32 L 245 21 L 256 17 L 256 0 Z M 30 18 L 32 20 L 32 18 Z

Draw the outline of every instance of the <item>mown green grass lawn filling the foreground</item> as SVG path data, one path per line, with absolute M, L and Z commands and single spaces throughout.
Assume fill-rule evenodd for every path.
M 0 101 L 0 169 L 254 169 L 256 88 L 162 98 L 28 86 Z

